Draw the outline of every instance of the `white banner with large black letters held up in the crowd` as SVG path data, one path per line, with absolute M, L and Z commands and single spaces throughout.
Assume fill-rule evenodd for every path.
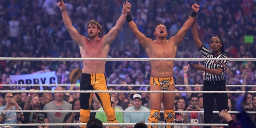
M 57 76 L 54 72 L 38 74 L 10 75 L 12 84 L 58 84 Z

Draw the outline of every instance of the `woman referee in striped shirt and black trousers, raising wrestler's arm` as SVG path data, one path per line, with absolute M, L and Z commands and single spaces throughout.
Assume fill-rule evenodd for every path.
M 212 52 L 202 45 L 199 40 L 196 22 L 193 24 L 193 39 L 204 58 L 228 58 L 224 54 L 224 43 L 219 35 L 213 36 L 210 40 Z M 205 72 L 203 91 L 226 91 L 226 80 L 223 72 L 228 65 L 228 60 L 205 60 L 204 67 L 200 64 L 190 65 L 194 66 L 196 70 Z M 204 124 L 212 123 L 214 100 L 216 100 L 219 112 L 225 109 L 228 110 L 228 95 L 226 93 L 203 93 Z M 204 126 L 204 128 L 211 128 L 211 126 Z

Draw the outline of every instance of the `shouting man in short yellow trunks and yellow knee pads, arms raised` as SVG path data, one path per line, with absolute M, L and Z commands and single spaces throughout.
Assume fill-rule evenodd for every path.
M 135 22 L 132 21 L 132 17 L 128 12 L 126 17 L 128 25 L 133 34 L 138 39 L 140 45 L 145 48 L 148 58 L 175 58 L 177 46 L 182 42 L 186 32 L 190 29 L 194 22 L 194 18 L 199 10 L 198 4 L 192 5 L 193 13 L 190 14 L 188 20 L 184 23 L 179 32 L 172 36 L 169 40 L 166 40 L 167 30 L 164 24 L 159 23 L 156 25 L 154 35 L 156 40 L 147 38 L 142 34 Z M 152 68 L 150 73 L 150 90 L 175 90 L 173 81 L 173 60 L 150 60 L 150 66 Z M 164 118 L 167 123 L 174 123 L 174 93 L 150 93 L 150 116 L 148 123 L 156 123 L 160 118 L 160 106 L 161 102 L 164 104 Z M 167 128 L 173 128 L 174 126 L 167 126 Z M 156 128 L 148 126 L 148 128 Z

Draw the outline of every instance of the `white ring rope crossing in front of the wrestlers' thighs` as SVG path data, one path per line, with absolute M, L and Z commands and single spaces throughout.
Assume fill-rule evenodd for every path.
M 64 92 L 70 92 L 70 93 L 75 93 L 75 92 L 79 92 L 79 93 L 111 93 L 111 92 L 124 92 L 124 93 L 256 93 L 256 91 L 115 91 L 115 90 L 92 90 L 92 91 L 81 91 L 81 90 L 66 90 L 66 91 L 57 91 L 57 90 L 52 90 L 52 91 L 48 91 L 48 90 L 0 90 L 0 93 L 8 93 L 8 92 L 13 92 L 13 93 L 29 93 L 29 92 L 44 92 L 44 93 L 64 93 Z

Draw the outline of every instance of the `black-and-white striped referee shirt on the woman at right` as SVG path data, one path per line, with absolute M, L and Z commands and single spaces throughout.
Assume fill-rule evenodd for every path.
M 199 51 L 203 54 L 204 58 L 228 58 L 225 54 L 221 53 L 217 56 L 214 56 L 208 48 L 206 48 L 204 45 L 201 46 Z M 220 81 L 224 80 L 224 70 L 228 66 L 228 60 L 205 60 L 204 61 L 204 67 L 210 68 L 210 69 L 217 69 L 221 68 L 223 70 L 222 74 L 219 76 L 210 74 L 208 72 L 205 72 L 204 78 L 207 81 Z

